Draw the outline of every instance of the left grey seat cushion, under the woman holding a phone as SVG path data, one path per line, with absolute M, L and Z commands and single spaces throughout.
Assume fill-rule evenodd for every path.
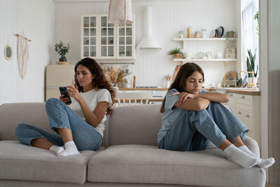
M 94 151 L 57 157 L 53 151 L 0 141 L 0 179 L 84 183 Z

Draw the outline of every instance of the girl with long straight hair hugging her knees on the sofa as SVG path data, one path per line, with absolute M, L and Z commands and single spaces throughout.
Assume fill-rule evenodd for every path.
M 211 141 L 241 167 L 273 165 L 274 158 L 262 159 L 244 145 L 248 127 L 220 103 L 228 102 L 228 95 L 202 90 L 203 83 L 200 66 L 183 64 L 162 102 L 159 148 L 200 151 Z

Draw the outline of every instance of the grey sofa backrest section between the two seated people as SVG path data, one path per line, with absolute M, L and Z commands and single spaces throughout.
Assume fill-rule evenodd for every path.
M 114 108 L 109 125 L 106 126 L 109 129 L 108 145 L 158 146 L 158 130 L 162 125 L 160 106 L 160 104 L 144 104 Z

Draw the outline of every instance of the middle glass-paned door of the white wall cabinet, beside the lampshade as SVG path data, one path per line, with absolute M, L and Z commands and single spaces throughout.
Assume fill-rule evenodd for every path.
M 102 16 L 100 22 L 101 57 L 115 56 L 114 29 L 114 25 L 107 23 L 107 16 Z

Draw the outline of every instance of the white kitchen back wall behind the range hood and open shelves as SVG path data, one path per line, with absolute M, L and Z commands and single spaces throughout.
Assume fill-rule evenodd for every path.
M 80 60 L 80 15 L 108 13 L 109 1 L 83 1 L 83 3 L 56 3 L 56 41 L 71 41 L 74 46 L 67 54 L 67 60 L 75 64 Z M 136 17 L 136 43 L 144 34 L 144 8 L 153 8 L 153 36 L 162 50 L 137 50 L 134 74 L 137 85 L 160 85 L 166 87 L 165 76 L 173 74 L 179 62 L 173 62 L 167 52 L 183 43 L 173 41 L 179 31 L 186 31 L 191 25 L 193 32 L 207 29 L 207 34 L 219 26 L 225 32 L 235 30 L 235 0 L 171 0 L 171 1 L 132 1 Z M 213 54 L 215 55 L 215 54 Z M 59 58 L 59 55 L 56 56 Z M 229 62 L 225 69 L 223 62 L 198 62 L 204 69 L 206 84 L 221 83 L 228 71 L 236 71 L 236 64 Z M 52 62 L 55 64 L 55 62 Z M 239 72 L 237 72 L 239 73 Z

